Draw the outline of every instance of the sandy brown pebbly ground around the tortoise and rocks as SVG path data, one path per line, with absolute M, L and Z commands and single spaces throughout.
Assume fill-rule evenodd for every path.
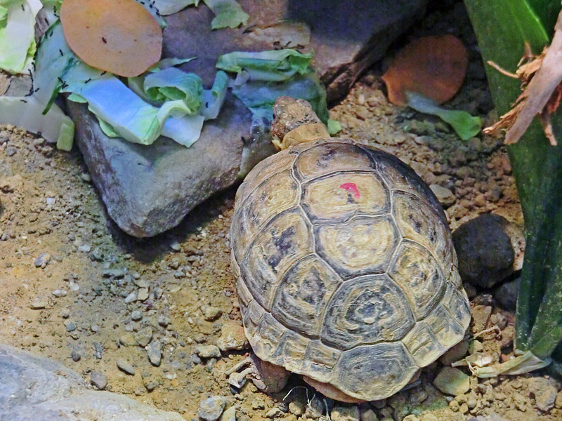
M 463 39 L 471 65 L 451 106 L 490 121 L 492 104 L 466 15 L 458 6 L 433 15 L 410 38 L 441 31 Z M 344 126 L 340 135 L 396 154 L 430 185 L 449 189 L 452 229 L 490 211 L 521 223 L 501 139 L 478 135 L 462 142 L 444 123 L 389 104 L 379 78 L 385 65 L 371 69 L 332 109 L 332 118 Z M 234 194 L 235 187 L 218 194 L 170 232 L 133 239 L 107 217 L 79 152 L 59 152 L 19 128 L 0 126 L 0 342 L 60 361 L 87 381 L 92 371 L 103 373 L 106 389 L 174 410 L 186 420 L 197 419 L 200 401 L 214 395 L 226 397 L 241 421 L 318 418 L 315 408 L 324 403 L 312 399 L 312 389 L 308 408 L 304 388 L 283 399 L 303 385 L 298 378 L 274 396 L 252 384 L 233 394 L 226 382 L 224 372 L 248 352 L 230 272 Z M 471 341 L 471 349 L 500 359 L 511 352 L 514 316 L 488 291 L 469 289 L 470 332 L 499 326 L 499 333 Z M 229 332 L 233 343 L 224 345 Z M 147 341 L 152 362 L 141 346 Z M 216 345 L 226 351 L 218 352 Z M 128 361 L 134 374 L 120 370 L 118 359 Z M 469 391 L 455 397 L 432 385 L 441 367 L 436 362 L 426 368 L 420 384 L 407 392 L 360 406 L 362 420 L 376 415 L 455 421 L 488 414 L 511 421 L 562 420 L 561 384 L 545 372 L 471 378 Z M 327 404 L 331 408 L 333 402 Z M 332 419 L 344 420 L 339 413 L 332 411 Z

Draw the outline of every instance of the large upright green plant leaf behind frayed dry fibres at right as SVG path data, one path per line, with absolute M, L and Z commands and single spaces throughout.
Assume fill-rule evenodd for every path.
M 549 43 L 560 11 L 558 0 L 465 0 L 465 4 L 484 62 L 492 60 L 510 72 L 516 70 L 525 42 L 534 53 Z M 497 112 L 504 114 L 521 93 L 520 81 L 488 65 L 486 72 Z M 559 110 L 551 123 L 556 138 L 562 139 Z M 556 326 L 562 324 L 562 144 L 551 146 L 534 121 L 508 153 L 527 234 L 515 345 L 544 359 L 556 347 Z

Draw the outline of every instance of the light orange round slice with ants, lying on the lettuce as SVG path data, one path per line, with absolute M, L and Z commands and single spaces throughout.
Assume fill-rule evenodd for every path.
M 162 29 L 135 0 L 65 0 L 60 22 L 70 49 L 96 69 L 138 76 L 162 54 Z

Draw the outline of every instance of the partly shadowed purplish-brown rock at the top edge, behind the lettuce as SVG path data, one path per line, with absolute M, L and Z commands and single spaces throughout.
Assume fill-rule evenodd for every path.
M 188 7 L 166 17 L 164 55 L 197 60 L 185 69 L 211 83 L 216 59 L 230 51 L 313 48 L 313 65 L 328 102 L 344 98 L 359 74 L 421 18 L 426 0 L 240 0 L 247 27 L 211 31 L 209 8 Z M 303 22 L 301 25 L 296 22 Z

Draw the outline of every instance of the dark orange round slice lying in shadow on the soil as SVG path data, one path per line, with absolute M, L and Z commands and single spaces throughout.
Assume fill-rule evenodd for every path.
M 406 93 L 412 92 L 442 104 L 461 87 L 468 64 L 466 48 L 456 36 L 416 39 L 396 55 L 382 76 L 388 100 L 396 105 L 407 105 Z

